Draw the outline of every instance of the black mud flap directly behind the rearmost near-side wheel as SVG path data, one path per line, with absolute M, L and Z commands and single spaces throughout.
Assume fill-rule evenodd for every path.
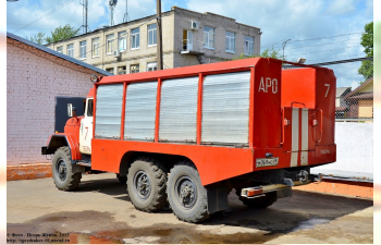
M 209 187 L 207 188 L 207 195 L 209 213 L 229 208 L 226 186 Z

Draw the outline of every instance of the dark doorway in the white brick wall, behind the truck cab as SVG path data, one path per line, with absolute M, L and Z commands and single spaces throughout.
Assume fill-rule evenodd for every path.
M 72 103 L 76 109 L 76 115 L 85 112 L 85 97 L 56 96 L 54 132 L 63 133 L 67 117 L 67 103 Z

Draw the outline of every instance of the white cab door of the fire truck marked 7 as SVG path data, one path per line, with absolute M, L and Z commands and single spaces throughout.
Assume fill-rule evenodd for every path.
M 82 154 L 91 154 L 91 138 L 93 138 L 93 109 L 94 99 L 87 98 L 85 118 L 81 120 L 79 128 L 79 151 Z

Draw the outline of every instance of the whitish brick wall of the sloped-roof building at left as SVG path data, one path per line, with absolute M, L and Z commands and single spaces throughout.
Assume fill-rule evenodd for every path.
M 7 163 L 50 162 L 56 96 L 86 96 L 95 72 L 7 38 Z

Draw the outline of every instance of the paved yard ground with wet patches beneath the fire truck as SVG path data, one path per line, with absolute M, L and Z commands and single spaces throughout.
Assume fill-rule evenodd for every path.
M 251 210 L 232 192 L 230 210 L 189 224 L 171 210 L 135 210 L 114 174 L 82 181 L 67 193 L 50 177 L 8 182 L 8 243 L 373 243 L 372 200 L 295 191 L 266 210 Z

